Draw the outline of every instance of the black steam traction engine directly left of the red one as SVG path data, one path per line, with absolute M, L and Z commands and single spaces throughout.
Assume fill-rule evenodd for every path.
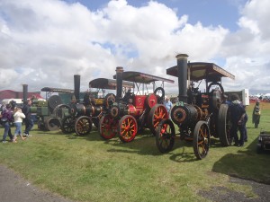
M 58 116 L 62 116 L 61 129 L 64 133 L 76 131 L 76 135 L 84 136 L 91 132 L 92 123 L 98 127 L 99 119 L 103 110 L 115 101 L 113 93 L 104 95 L 105 89 L 115 90 L 116 81 L 113 79 L 97 78 L 89 82 L 89 92 L 85 92 L 84 100 L 79 101 L 80 81 L 79 75 L 74 77 L 74 98 L 69 105 L 59 105 L 57 107 Z M 123 83 L 124 88 L 130 88 L 133 83 Z M 95 88 L 96 91 L 91 90 Z M 102 98 L 98 98 L 98 93 L 102 91 Z

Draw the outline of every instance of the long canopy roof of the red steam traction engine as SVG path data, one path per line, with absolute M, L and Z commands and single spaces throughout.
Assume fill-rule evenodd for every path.
M 127 72 L 124 71 L 121 77 L 122 77 L 122 80 L 124 81 L 135 82 L 135 83 L 152 83 L 152 82 L 157 82 L 157 81 L 175 83 L 174 80 L 162 78 L 156 75 L 148 75 L 145 73 L 133 72 L 133 71 L 127 71 Z M 116 79 L 116 75 L 113 75 L 113 78 Z

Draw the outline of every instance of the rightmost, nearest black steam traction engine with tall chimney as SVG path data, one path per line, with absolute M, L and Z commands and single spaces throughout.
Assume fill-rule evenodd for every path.
M 212 63 L 187 63 L 187 55 L 177 55 L 177 66 L 166 69 L 167 75 L 178 77 L 178 100 L 171 110 L 171 119 L 179 127 L 180 139 L 193 141 L 197 159 L 209 151 L 210 136 L 219 137 L 221 145 L 229 145 L 229 110 L 223 104 L 221 77 L 234 79 L 220 66 Z M 206 92 L 193 84 L 205 80 Z M 188 84 L 187 84 L 188 83 Z M 188 88 L 187 88 L 188 85 Z M 175 125 L 170 119 L 160 121 L 156 145 L 161 153 L 169 152 L 175 143 Z

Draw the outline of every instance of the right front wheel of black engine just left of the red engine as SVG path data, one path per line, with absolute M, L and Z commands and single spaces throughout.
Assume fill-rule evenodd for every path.
M 78 136 L 85 136 L 92 130 L 92 120 L 89 117 L 82 116 L 76 119 L 75 131 Z

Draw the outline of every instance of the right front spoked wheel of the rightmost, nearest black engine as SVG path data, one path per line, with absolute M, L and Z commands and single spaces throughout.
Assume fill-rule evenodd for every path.
M 193 132 L 193 151 L 198 160 L 202 160 L 209 151 L 210 130 L 205 121 L 200 120 Z

